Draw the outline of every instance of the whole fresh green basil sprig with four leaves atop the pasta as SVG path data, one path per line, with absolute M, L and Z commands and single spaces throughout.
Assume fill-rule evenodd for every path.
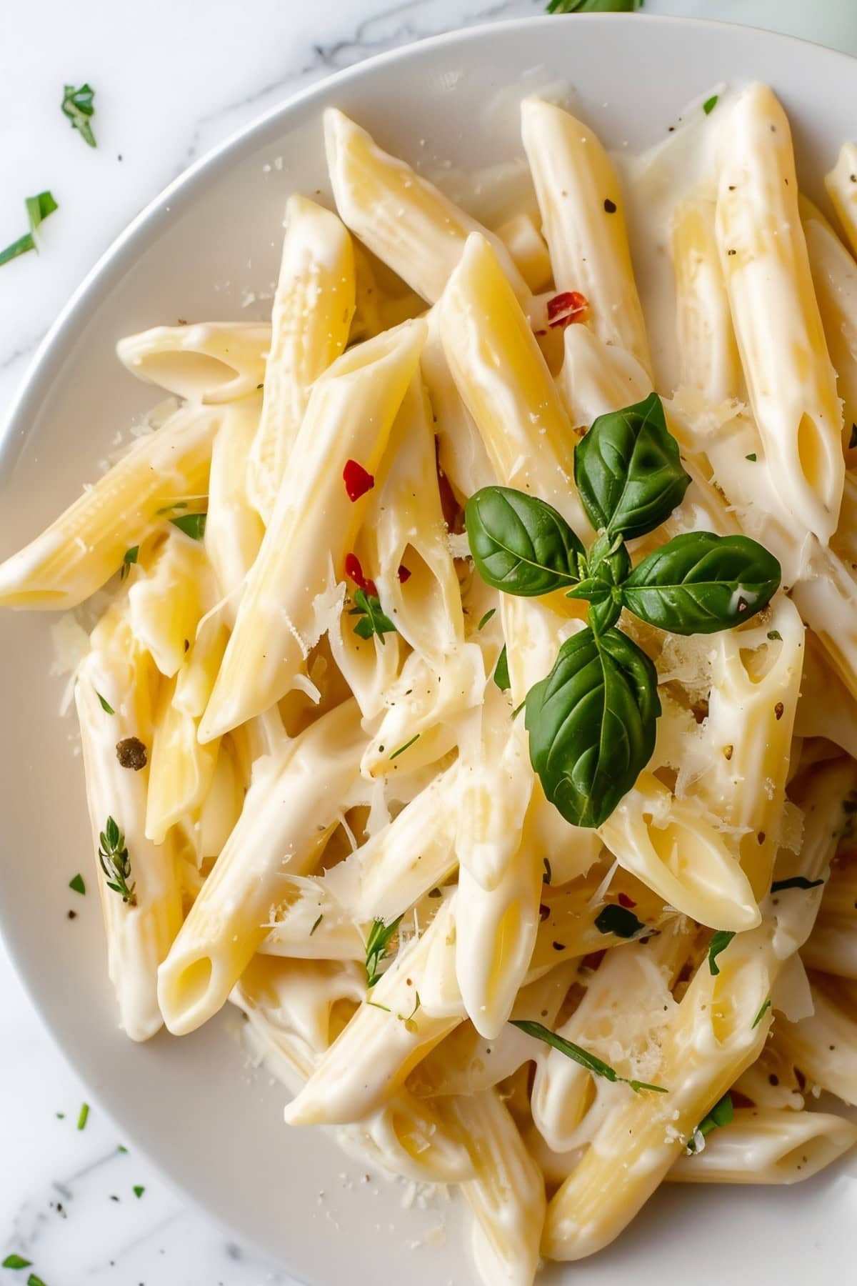
M 780 565 L 748 536 L 693 531 L 632 570 L 626 540 L 664 522 L 690 484 L 657 394 L 595 421 L 574 480 L 597 531 L 588 553 L 551 505 L 511 487 L 482 487 L 465 522 L 488 585 L 588 602 L 588 628 L 527 693 L 526 724 L 547 799 L 574 826 L 597 827 L 649 763 L 660 715 L 651 661 L 615 629 L 622 610 L 673 634 L 727 630 L 767 606 Z

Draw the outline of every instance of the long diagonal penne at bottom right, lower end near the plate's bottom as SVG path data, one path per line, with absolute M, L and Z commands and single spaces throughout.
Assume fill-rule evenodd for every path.
M 627 1227 L 681 1155 L 711 1107 L 758 1057 L 768 1028 L 772 955 L 770 930 L 740 934 L 704 962 L 660 1031 L 654 1082 L 666 1094 L 615 1087 L 605 1116 L 579 1164 L 547 1206 L 542 1254 L 577 1260 Z M 761 1015 L 761 1017 L 759 1017 Z

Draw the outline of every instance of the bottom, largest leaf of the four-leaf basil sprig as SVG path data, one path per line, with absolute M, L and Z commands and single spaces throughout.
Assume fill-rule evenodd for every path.
M 573 826 L 608 819 L 651 757 L 660 714 L 655 667 L 619 630 L 567 639 L 527 693 L 529 759 Z

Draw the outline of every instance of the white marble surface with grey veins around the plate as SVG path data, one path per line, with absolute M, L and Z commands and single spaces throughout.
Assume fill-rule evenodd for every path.
M 464 23 L 536 14 L 543 3 L 9 5 L 0 44 L 0 246 L 26 228 L 24 195 L 50 188 L 60 208 L 45 224 L 40 256 L 0 269 L 0 415 L 84 274 L 190 161 L 357 59 Z M 646 0 L 646 12 L 741 18 L 857 53 L 853 0 Z M 96 150 L 59 112 L 68 80 L 96 89 Z M 118 1151 L 122 1139 L 98 1107 L 77 1129 L 86 1087 L 53 1046 L 1 944 L 0 1049 L 0 1259 L 10 1251 L 31 1259 L 46 1286 L 289 1286 L 276 1265 L 189 1209 L 143 1157 Z M 145 1188 L 140 1197 L 135 1184 Z M 0 1276 L 23 1286 L 27 1273 Z

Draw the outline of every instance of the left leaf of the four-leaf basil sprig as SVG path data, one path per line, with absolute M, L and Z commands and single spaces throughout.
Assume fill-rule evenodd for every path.
M 468 500 L 464 521 L 477 570 L 495 589 L 535 598 L 579 580 L 583 545 L 543 500 L 484 486 Z

